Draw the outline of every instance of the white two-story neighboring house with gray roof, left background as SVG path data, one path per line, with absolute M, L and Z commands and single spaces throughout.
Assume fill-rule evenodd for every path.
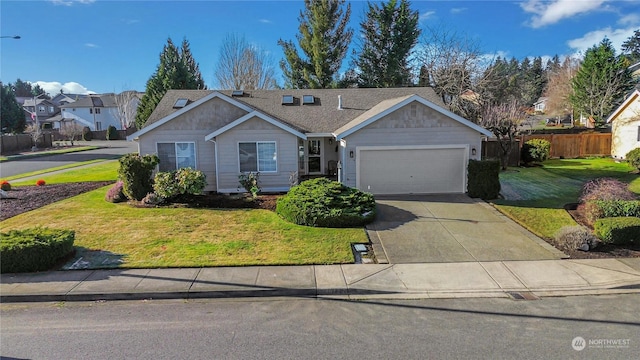
M 124 130 L 117 115 L 115 94 L 91 94 L 70 104 L 62 105 L 62 121 L 75 121 L 91 131 L 107 130 L 109 125 Z

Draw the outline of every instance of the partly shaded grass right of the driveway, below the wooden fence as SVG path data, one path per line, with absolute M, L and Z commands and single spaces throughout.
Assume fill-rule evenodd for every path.
M 629 183 L 640 194 L 640 176 L 626 163 L 607 158 L 548 160 L 543 167 L 509 169 L 500 174 L 502 194 L 498 210 L 533 233 L 553 238 L 563 226 L 576 225 L 564 205 L 578 202 L 582 185 L 599 177 Z

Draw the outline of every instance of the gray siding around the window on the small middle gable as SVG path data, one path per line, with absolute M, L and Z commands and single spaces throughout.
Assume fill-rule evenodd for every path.
M 260 187 L 264 192 L 286 191 L 289 189 L 289 176 L 298 166 L 298 138 L 268 122 L 253 118 L 219 135 L 218 147 L 218 191 L 232 193 L 238 190 L 240 163 L 238 144 L 241 142 L 273 141 L 276 143 L 277 171 L 260 173 Z

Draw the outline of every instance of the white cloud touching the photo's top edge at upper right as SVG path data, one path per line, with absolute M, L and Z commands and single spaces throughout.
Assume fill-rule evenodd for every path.
M 528 0 L 520 6 L 525 12 L 534 14 L 530 25 L 534 28 L 559 22 L 578 14 L 599 10 L 607 0 Z

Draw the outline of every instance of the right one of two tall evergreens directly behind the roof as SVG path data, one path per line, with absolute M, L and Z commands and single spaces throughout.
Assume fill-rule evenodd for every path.
M 369 3 L 360 23 L 363 44 L 354 64 L 360 69 L 362 87 L 410 85 L 409 56 L 420 36 L 418 11 L 408 0 Z

